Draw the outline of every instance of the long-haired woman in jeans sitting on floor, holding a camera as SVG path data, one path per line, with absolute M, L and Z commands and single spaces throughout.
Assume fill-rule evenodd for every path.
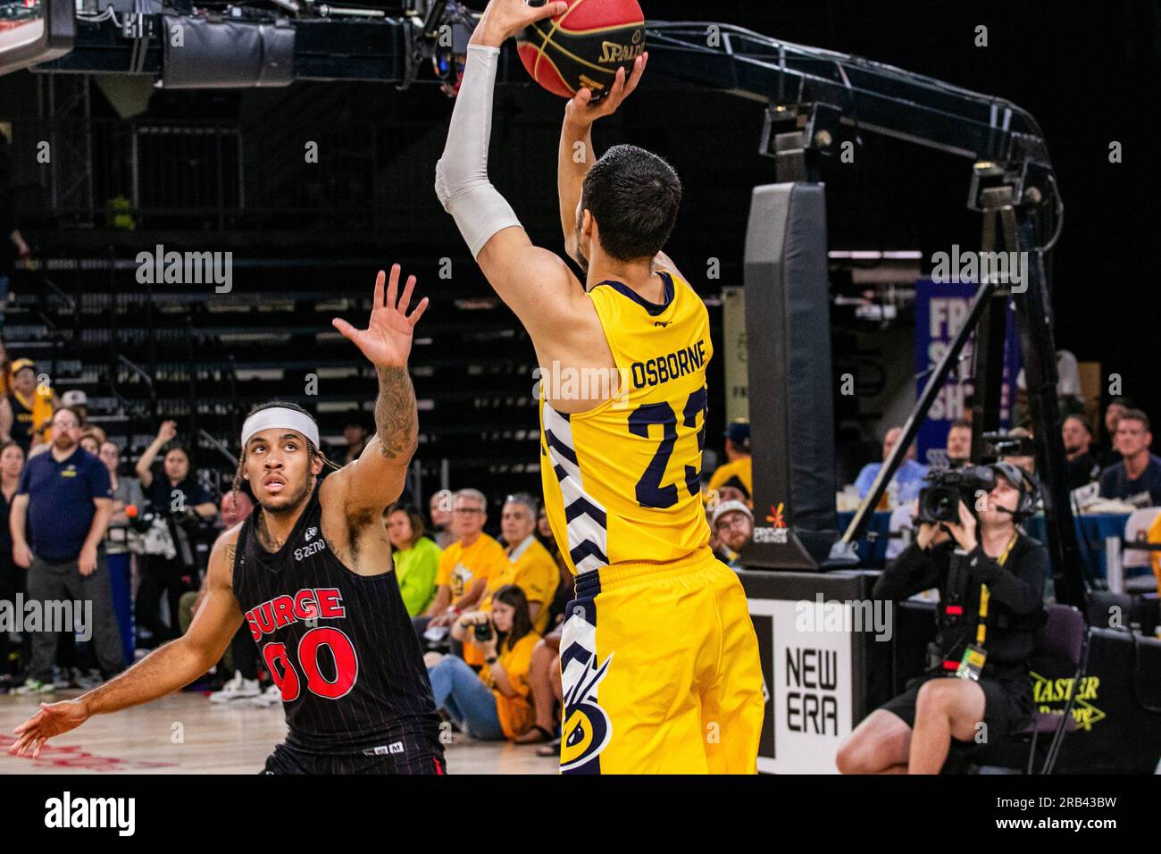
M 452 632 L 457 640 L 473 633 L 483 647 L 484 668 L 477 676 L 463 659 L 428 653 L 435 706 L 476 739 L 517 739 L 526 733 L 533 723 L 528 670 L 540 636 L 532 627 L 524 591 L 515 584 L 502 587 L 491 612 L 464 615 Z

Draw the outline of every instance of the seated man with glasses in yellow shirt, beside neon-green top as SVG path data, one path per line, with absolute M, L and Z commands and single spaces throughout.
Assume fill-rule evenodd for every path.
M 450 626 L 463 611 L 483 598 L 488 579 L 507 566 L 504 547 L 484 533 L 488 500 L 478 489 L 461 489 L 452 501 L 452 533 L 456 539 L 439 559 L 435 601 L 414 619 L 420 634 L 427 629 Z

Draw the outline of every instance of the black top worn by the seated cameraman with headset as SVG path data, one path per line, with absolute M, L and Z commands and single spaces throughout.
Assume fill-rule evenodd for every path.
M 1044 619 L 1044 583 L 1048 577 L 1048 550 L 1021 534 L 1003 566 L 976 546 L 964 554 L 953 541 L 926 551 L 909 545 L 875 582 L 877 600 L 904 600 L 932 587 L 939 589 L 936 610 L 936 645 L 942 660 L 959 661 L 968 644 L 975 643 L 980 612 L 980 587 L 988 586 L 988 618 L 983 650 L 987 679 L 1026 680 L 1027 659 L 1036 631 Z M 939 619 L 949 602 L 964 609 L 953 623 Z M 942 661 L 931 672 L 945 672 Z

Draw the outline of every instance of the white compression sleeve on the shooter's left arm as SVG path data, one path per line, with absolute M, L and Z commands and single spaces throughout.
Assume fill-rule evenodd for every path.
M 435 195 L 455 218 L 473 258 L 497 231 L 520 224 L 512 206 L 488 180 L 492 91 L 499 55 L 499 48 L 468 45 L 468 63 L 452 110 L 447 145 L 435 164 Z

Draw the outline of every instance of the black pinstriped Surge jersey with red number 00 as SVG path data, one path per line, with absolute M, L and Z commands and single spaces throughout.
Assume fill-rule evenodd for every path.
M 317 487 L 276 552 L 258 541 L 259 512 L 238 534 L 233 594 L 282 689 L 287 745 L 319 754 L 441 753 L 440 718 L 395 573 L 368 577 L 344 566 L 323 538 Z

